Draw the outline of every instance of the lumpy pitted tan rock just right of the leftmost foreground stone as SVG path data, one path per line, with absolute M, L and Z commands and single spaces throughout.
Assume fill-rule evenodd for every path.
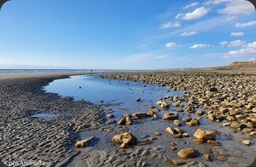
M 137 143 L 137 138 L 131 133 L 122 133 L 121 135 L 113 136 L 113 142 L 124 148 L 135 145 Z

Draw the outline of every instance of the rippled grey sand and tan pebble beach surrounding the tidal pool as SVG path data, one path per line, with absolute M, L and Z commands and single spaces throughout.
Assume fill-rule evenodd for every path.
M 131 122 L 129 125 L 120 125 L 120 120 L 109 125 L 107 114 L 111 112 L 102 111 L 102 107 L 110 104 L 76 101 L 72 97 L 63 98 L 43 90 L 43 86 L 55 79 L 77 74 L 82 73 L 0 74 L 2 162 L 41 160 L 50 162 L 50 166 L 169 166 L 173 165 L 173 161 L 187 166 L 190 163 L 192 166 L 247 166 L 254 162 L 254 71 L 144 71 L 101 75 L 102 78 L 158 84 L 184 91 L 182 97 L 162 97 L 162 100 L 176 107 L 176 111 L 183 115 L 182 118 L 176 118 L 176 123 L 169 122 L 172 131 L 180 127 L 180 130 L 187 132 L 188 137 L 182 138 L 179 134 L 183 136 L 183 133 L 169 135 L 165 131 L 167 127 L 159 127 L 160 134 L 150 132 L 149 127 L 154 121 L 147 121 L 143 126 L 139 126 L 139 123 L 138 127 L 144 129 L 136 128 L 139 115 L 145 115 L 147 111 L 141 111 L 142 114 L 125 114 L 126 122 Z M 157 101 L 152 101 L 152 105 L 158 107 L 155 104 Z M 186 104 L 181 105 L 181 102 Z M 199 112 L 200 106 L 203 111 L 201 109 Z M 166 113 L 165 110 L 160 111 Z M 61 116 L 30 118 L 40 113 Z M 192 121 L 184 119 L 192 115 L 196 116 L 193 116 Z M 198 120 L 195 125 L 194 118 Z M 203 119 L 210 123 L 205 125 Z M 216 138 L 206 143 L 202 140 L 200 143 L 193 136 L 200 128 L 217 130 Z M 113 142 L 113 136 L 125 132 L 147 135 L 135 136 L 138 142 L 134 146 L 121 148 Z M 95 139 L 88 147 L 75 147 L 76 140 L 84 140 L 89 136 Z M 249 146 L 243 144 L 243 140 L 249 140 Z M 180 158 L 177 155 L 178 151 L 187 147 L 195 149 L 195 158 Z

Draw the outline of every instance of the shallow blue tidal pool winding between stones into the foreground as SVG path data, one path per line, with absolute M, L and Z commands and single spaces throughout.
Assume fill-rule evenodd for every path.
M 138 82 L 109 80 L 93 75 L 58 79 L 47 85 L 45 90 L 50 93 L 58 93 L 61 96 L 73 96 L 75 100 L 87 100 L 98 104 L 113 103 L 115 105 L 102 105 L 105 111 L 115 115 L 115 118 L 108 118 L 109 121 L 118 121 L 124 113 L 147 112 L 151 106 L 158 107 L 155 104 L 158 98 L 183 96 L 182 92 L 173 91 L 167 87 Z M 141 98 L 141 102 L 135 101 L 137 97 Z M 176 107 L 171 105 L 169 111 L 175 111 L 176 109 Z M 156 121 L 152 121 L 151 118 L 144 118 L 135 120 L 134 125 L 125 126 L 128 132 L 138 138 L 139 142 L 147 140 L 148 136 L 154 136 L 154 132 L 156 131 L 162 133 L 161 136 L 157 136 L 157 140 L 147 144 L 147 146 L 136 146 L 126 149 L 126 155 L 124 156 L 126 158 L 125 163 L 148 162 L 150 165 L 159 165 L 158 163 L 160 163 L 161 166 L 169 166 L 169 159 L 177 158 L 176 153 L 185 147 L 194 147 L 198 150 L 201 154 L 193 160 L 203 162 L 209 166 L 223 166 L 224 164 L 224 166 L 234 164 L 244 166 L 244 164 L 250 165 L 250 162 L 254 160 L 254 146 L 245 147 L 241 143 L 242 140 L 248 139 L 247 135 L 232 133 L 230 129 L 224 127 L 221 123 L 210 122 L 204 117 L 200 119 L 201 125 L 199 126 L 188 127 L 183 123 L 180 127 L 185 133 L 189 134 L 189 137 L 174 138 L 173 136 L 169 136 L 165 132 L 165 129 L 168 126 L 171 128 L 175 128 L 176 126 L 173 125 L 173 121 L 164 121 L 161 119 L 165 112 L 161 110 L 158 113 L 159 118 Z M 192 118 L 198 116 L 197 114 L 190 115 Z M 186 111 L 179 113 L 180 119 L 184 116 L 187 116 Z M 195 145 L 191 136 L 193 136 L 193 133 L 198 128 L 217 130 L 217 142 L 220 145 L 213 146 L 207 143 Z M 88 154 L 87 165 L 107 165 L 106 162 L 109 161 L 109 157 L 110 159 L 121 158 L 121 154 L 123 153 L 120 153 L 120 149 L 111 142 L 114 135 L 116 134 L 113 132 L 102 133 L 94 131 L 80 133 L 81 139 L 89 136 L 95 136 L 96 138 L 88 147 L 80 150 L 83 151 L 83 154 Z M 170 143 L 176 144 L 177 149 L 175 151 L 170 150 Z M 204 153 L 211 153 L 213 162 L 206 162 L 202 157 Z M 101 159 L 101 161 L 98 161 L 98 159 Z M 72 165 L 76 166 L 81 161 L 82 157 L 78 156 L 72 162 Z M 112 163 L 109 161 L 109 165 L 112 165 Z

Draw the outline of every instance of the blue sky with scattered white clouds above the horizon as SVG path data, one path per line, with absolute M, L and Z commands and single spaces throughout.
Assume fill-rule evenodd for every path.
M 0 68 L 161 69 L 256 59 L 245 0 L 12 0 Z

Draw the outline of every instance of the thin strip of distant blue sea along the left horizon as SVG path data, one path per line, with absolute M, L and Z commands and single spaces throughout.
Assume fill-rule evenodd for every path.
M 0 69 L 0 73 L 32 73 L 32 72 L 105 72 L 106 70 L 88 69 Z

